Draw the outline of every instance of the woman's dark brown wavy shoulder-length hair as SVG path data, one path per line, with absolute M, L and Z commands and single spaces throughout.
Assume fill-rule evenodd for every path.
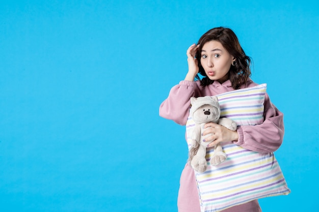
M 199 74 L 201 74 L 203 78 L 200 80 L 200 77 L 196 75 L 196 79 L 201 81 L 202 86 L 206 86 L 214 82 L 214 80 L 207 77 L 200 63 L 202 48 L 204 44 L 209 41 L 220 42 L 228 53 L 236 58 L 236 64 L 235 66 L 230 66 L 227 78 L 230 80 L 231 86 L 234 89 L 240 88 L 242 84 L 247 82 L 251 75 L 251 58 L 245 54 L 235 33 L 230 28 L 226 27 L 212 28 L 198 40 L 197 44 L 199 45 L 199 48 L 195 57 L 198 59 Z

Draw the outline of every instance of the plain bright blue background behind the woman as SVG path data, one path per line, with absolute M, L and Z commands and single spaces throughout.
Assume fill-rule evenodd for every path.
M 188 47 L 233 29 L 285 114 L 276 157 L 319 211 L 318 1 L 2 1 L 0 211 L 177 211 L 184 127 L 158 116 Z

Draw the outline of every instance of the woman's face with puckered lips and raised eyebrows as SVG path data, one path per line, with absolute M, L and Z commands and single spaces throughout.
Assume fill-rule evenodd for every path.
M 225 82 L 233 60 L 220 42 L 208 41 L 203 45 L 200 63 L 209 79 Z

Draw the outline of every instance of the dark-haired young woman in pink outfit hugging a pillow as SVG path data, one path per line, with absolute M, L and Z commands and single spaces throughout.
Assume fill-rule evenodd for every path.
M 159 107 L 159 115 L 185 125 L 189 116 L 190 98 L 215 96 L 234 89 L 256 86 L 250 77 L 250 57 L 242 49 L 236 35 L 229 28 L 217 27 L 206 32 L 187 50 L 189 70 L 185 79 L 172 87 L 168 98 Z M 203 76 L 199 78 L 198 74 Z M 209 146 L 232 141 L 255 152 L 275 152 L 284 135 L 283 114 L 265 95 L 264 122 L 255 126 L 238 126 L 236 131 L 215 123 L 207 123 L 203 135 Z M 199 212 L 199 196 L 195 173 L 186 164 L 178 193 L 179 212 Z M 224 210 L 261 211 L 257 200 Z

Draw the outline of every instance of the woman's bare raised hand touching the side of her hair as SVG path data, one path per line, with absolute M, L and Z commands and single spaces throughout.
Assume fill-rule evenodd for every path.
M 186 52 L 189 71 L 185 77 L 185 80 L 194 81 L 195 76 L 198 74 L 198 60 L 195 58 L 198 47 L 199 45 L 193 44 Z

